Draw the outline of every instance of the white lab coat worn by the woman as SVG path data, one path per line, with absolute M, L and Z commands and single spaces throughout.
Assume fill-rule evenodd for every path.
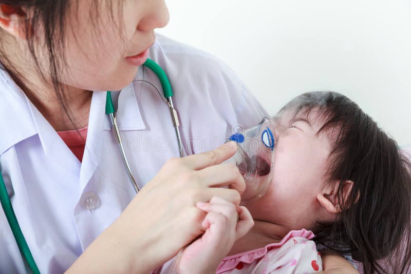
M 249 127 L 267 115 L 210 54 L 157 35 L 150 58 L 169 76 L 186 154 L 211 150 L 233 126 Z M 135 79 L 143 77 L 161 90 L 152 71 L 140 68 Z M 14 212 L 40 271 L 61 273 L 135 195 L 105 114 L 106 92 L 93 92 L 82 163 L 4 71 L 0 96 L 1 172 Z M 179 155 L 169 109 L 153 87 L 141 82 L 114 92 L 113 99 L 128 161 L 143 187 L 167 159 Z M 84 208 L 90 197 L 100 206 Z M 25 271 L 0 209 L 0 272 Z

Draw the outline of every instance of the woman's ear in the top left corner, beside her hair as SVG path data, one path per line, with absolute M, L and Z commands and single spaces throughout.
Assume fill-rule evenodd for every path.
M 0 4 L 0 28 L 14 37 L 26 39 L 24 26 L 26 17 L 27 14 L 23 8 Z

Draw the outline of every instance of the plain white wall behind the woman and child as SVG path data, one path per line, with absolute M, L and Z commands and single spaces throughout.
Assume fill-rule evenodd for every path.
M 411 0 L 168 0 L 158 30 L 229 64 L 274 114 L 339 91 L 411 144 Z

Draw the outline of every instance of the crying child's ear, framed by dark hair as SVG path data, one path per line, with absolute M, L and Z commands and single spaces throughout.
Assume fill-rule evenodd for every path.
M 350 180 L 343 182 L 343 191 L 340 193 L 341 201 L 346 202 L 349 194 L 352 190 L 352 185 L 354 183 Z M 340 213 L 341 207 L 338 204 L 338 182 L 329 184 L 324 187 L 324 189 L 318 193 L 317 200 L 320 202 L 320 205 L 324 207 L 330 213 Z

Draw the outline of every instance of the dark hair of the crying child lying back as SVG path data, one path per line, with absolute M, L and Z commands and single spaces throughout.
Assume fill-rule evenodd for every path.
M 363 263 L 365 273 L 411 271 L 411 164 L 360 107 L 337 92 L 309 92 L 288 103 L 294 117 L 316 111 L 332 142 L 327 183 L 338 182 L 342 211 L 316 224 L 314 241 Z M 344 182 L 352 181 L 344 197 Z

